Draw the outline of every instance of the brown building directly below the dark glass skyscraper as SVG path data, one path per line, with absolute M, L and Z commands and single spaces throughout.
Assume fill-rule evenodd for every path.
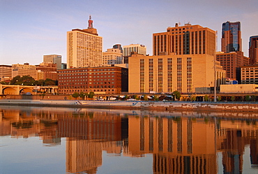
M 216 52 L 216 59 L 226 71 L 226 78 L 241 81 L 240 67 L 249 63 L 249 58 L 243 52 Z

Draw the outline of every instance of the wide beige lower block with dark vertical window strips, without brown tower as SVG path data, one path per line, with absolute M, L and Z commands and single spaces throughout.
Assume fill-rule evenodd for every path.
M 130 93 L 197 92 L 225 84 L 225 71 L 211 55 L 132 55 L 129 59 Z

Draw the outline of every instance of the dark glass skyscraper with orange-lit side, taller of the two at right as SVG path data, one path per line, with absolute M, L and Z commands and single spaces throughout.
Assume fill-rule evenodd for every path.
M 242 51 L 240 22 L 227 21 L 222 24 L 221 51 L 226 53 Z

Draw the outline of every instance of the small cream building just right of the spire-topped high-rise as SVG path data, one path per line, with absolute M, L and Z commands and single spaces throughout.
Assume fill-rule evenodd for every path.
M 102 55 L 103 65 L 123 64 L 123 54 L 119 48 L 109 48 Z

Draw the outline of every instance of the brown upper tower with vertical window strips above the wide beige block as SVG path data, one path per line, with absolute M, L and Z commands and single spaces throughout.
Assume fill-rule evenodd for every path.
M 215 31 L 199 25 L 168 27 L 166 32 L 153 34 L 155 55 L 215 55 Z

